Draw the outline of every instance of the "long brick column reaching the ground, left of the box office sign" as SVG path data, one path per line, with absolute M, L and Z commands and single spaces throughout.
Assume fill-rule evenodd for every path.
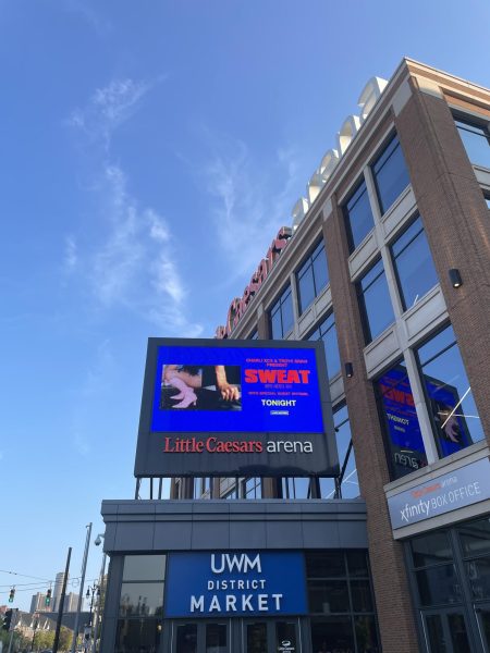
M 323 226 L 333 309 L 342 362 L 351 361 L 354 375 L 344 387 L 360 493 L 367 506 L 367 529 L 372 581 L 384 653 L 418 651 L 402 545 L 393 540 L 383 484 L 389 482 L 387 457 L 373 387 L 363 357 L 364 335 L 355 288 L 350 280 L 348 246 L 342 214 L 333 199 L 333 213 Z

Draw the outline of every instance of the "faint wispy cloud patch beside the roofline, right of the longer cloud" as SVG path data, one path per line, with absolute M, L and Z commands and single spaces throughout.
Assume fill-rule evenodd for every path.
M 241 140 L 215 137 L 212 150 L 204 165 L 206 190 L 213 198 L 217 237 L 236 279 L 252 273 L 279 227 L 291 224 L 296 156 L 292 149 L 278 151 L 265 173 Z

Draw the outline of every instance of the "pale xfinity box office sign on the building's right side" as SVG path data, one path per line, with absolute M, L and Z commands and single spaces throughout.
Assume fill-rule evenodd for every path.
M 490 461 L 482 458 L 388 498 L 393 529 L 490 498 Z

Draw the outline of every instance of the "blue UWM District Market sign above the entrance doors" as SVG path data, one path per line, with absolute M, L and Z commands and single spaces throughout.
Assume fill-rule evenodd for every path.
M 299 552 L 171 553 L 166 617 L 305 615 Z

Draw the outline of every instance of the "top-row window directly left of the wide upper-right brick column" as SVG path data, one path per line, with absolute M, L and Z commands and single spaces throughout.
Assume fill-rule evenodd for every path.
M 381 213 L 385 213 L 408 184 L 408 172 L 396 134 L 372 164 Z

